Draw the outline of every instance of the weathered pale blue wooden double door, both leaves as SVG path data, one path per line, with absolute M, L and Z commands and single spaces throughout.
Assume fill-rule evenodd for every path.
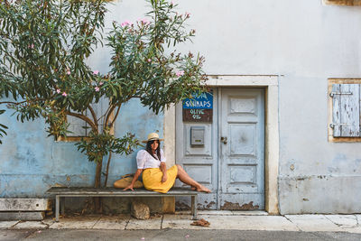
M 176 163 L 211 194 L 199 195 L 199 209 L 264 209 L 264 89 L 213 90 L 213 122 L 183 122 L 176 108 Z M 190 128 L 205 127 L 205 144 L 190 145 Z M 182 187 L 180 181 L 176 186 Z M 190 200 L 177 198 L 189 208 Z

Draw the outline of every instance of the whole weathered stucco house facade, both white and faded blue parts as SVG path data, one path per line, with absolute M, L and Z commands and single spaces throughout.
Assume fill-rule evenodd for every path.
M 204 55 L 208 75 L 222 77 L 223 85 L 236 81 L 227 76 L 235 76 L 240 80 L 231 82 L 233 87 L 255 86 L 249 80 L 255 76 L 276 79 L 272 99 L 266 100 L 273 105 L 266 107 L 273 120 L 267 126 L 272 138 L 265 141 L 265 152 L 273 158 L 265 165 L 266 209 L 271 202 L 271 213 L 361 212 L 356 191 L 361 188 L 361 144 L 328 138 L 328 79 L 361 78 L 361 8 L 321 0 L 175 2 L 180 13 L 190 12 L 190 27 L 197 30 L 193 44 L 181 49 Z M 142 0 L 123 0 L 111 9 L 108 24 L 135 21 L 147 10 Z M 98 50 L 89 61 L 106 71 L 105 60 L 106 51 Z M 209 84 L 223 86 L 211 78 Z M 164 130 L 171 164 L 174 115 L 171 109 L 164 120 L 132 101 L 123 109 L 116 135 L 130 131 L 144 138 Z M 10 127 L 0 146 L 0 197 L 42 197 L 56 183 L 92 184 L 94 163 L 73 144 L 46 138 L 42 121 L 23 125 L 7 115 L 0 123 Z M 134 171 L 134 154 L 115 156 L 110 170 L 109 183 Z

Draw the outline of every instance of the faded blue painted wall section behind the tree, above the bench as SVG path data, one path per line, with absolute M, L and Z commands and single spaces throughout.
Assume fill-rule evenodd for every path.
M 4 144 L 0 145 L 0 198 L 40 198 L 51 186 L 94 184 L 96 164 L 88 162 L 74 143 L 55 142 L 53 137 L 47 137 L 43 120 L 22 124 L 11 113 L 0 116 L 0 123 L 9 127 Z M 115 134 L 121 137 L 131 132 L 141 140 L 150 132 L 162 136 L 162 122 L 162 114 L 156 116 L 138 100 L 131 100 L 121 109 Z M 107 186 L 136 170 L 135 153 L 112 156 Z

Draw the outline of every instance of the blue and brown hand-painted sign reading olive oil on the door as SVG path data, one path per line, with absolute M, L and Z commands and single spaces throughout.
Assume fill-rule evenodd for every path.
M 212 92 L 194 94 L 192 98 L 184 99 L 182 104 L 184 122 L 212 122 Z

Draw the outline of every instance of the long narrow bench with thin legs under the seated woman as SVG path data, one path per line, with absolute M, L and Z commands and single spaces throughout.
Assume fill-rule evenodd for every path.
M 134 189 L 122 190 L 115 188 L 61 188 L 53 187 L 46 191 L 47 194 L 55 195 L 55 220 L 59 222 L 60 198 L 66 197 L 191 197 L 191 214 L 197 219 L 197 195 L 198 191 L 190 189 L 172 188 L 167 193 L 151 190 Z M 64 200 L 61 202 L 61 213 L 64 214 Z

